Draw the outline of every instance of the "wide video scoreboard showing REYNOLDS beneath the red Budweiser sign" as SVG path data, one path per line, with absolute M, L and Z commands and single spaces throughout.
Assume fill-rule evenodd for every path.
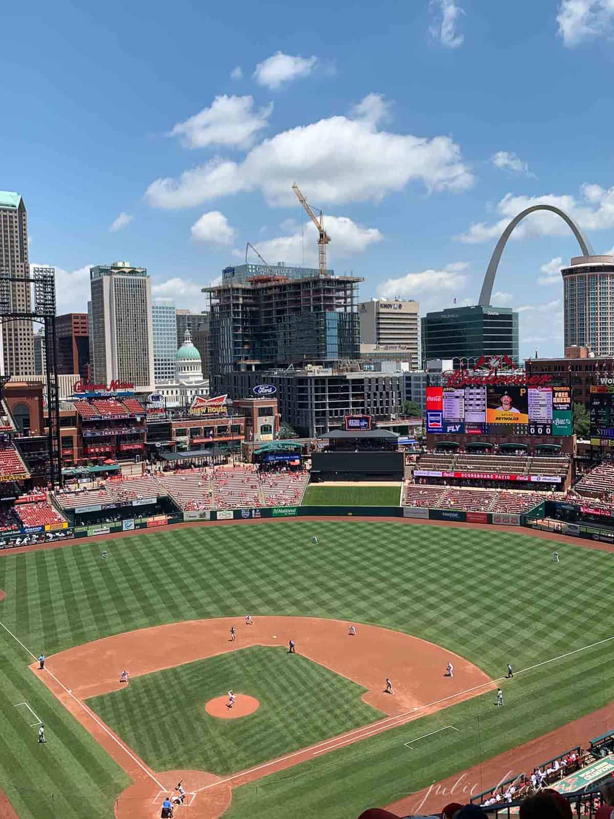
M 571 435 L 570 389 L 516 384 L 427 387 L 427 432 Z

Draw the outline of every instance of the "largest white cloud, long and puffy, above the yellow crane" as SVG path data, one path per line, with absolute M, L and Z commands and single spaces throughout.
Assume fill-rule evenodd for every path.
M 286 206 L 296 204 L 295 180 L 309 201 L 323 205 L 380 201 L 410 182 L 460 192 L 472 186 L 473 176 L 449 136 L 390 133 L 370 121 L 332 116 L 265 139 L 242 162 L 218 157 L 178 179 L 156 179 L 146 196 L 153 206 L 179 208 L 260 190 L 269 204 Z

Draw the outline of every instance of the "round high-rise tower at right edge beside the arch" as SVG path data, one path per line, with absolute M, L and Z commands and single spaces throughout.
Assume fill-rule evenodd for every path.
M 565 346 L 614 355 L 614 256 L 575 256 L 561 274 Z

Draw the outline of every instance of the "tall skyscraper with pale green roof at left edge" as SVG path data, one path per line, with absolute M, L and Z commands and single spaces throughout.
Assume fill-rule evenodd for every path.
M 28 215 L 19 193 L 0 191 L 0 269 L 11 276 L 29 276 Z M 30 310 L 29 284 L 11 282 L 12 310 Z M 2 324 L 4 372 L 34 375 L 34 332 L 31 321 Z

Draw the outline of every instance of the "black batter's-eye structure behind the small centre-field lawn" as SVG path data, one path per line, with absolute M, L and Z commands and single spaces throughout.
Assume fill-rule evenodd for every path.
M 399 436 L 387 429 L 334 429 L 323 432 L 327 451 L 311 455 L 311 478 L 317 481 L 402 481 L 404 454 L 397 451 Z

